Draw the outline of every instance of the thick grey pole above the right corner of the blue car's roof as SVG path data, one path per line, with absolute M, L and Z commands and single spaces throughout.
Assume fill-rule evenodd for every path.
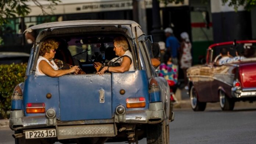
M 142 31 L 147 35 L 147 15 L 145 0 L 132 0 L 132 6 L 134 21 L 141 25 Z

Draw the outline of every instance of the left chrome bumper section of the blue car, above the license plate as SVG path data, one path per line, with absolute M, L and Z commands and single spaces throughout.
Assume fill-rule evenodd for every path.
M 56 118 L 46 118 L 46 116 L 24 116 L 22 110 L 11 111 L 9 127 L 12 130 L 30 129 L 36 127 L 55 126 Z

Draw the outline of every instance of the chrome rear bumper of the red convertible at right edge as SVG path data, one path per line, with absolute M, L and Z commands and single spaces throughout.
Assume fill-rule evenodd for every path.
M 231 94 L 234 98 L 256 97 L 256 88 L 232 87 Z

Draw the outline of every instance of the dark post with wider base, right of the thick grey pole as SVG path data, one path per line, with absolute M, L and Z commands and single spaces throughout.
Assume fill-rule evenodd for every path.
M 161 30 L 161 21 L 160 21 L 160 7 L 158 0 L 152 0 L 152 20 L 153 30 L 151 31 L 153 41 L 160 42 L 164 41 L 164 31 Z

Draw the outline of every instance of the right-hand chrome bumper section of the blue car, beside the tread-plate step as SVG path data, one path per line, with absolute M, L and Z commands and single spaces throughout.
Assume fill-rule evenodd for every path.
M 162 102 L 149 104 L 149 110 L 126 111 L 123 115 L 115 114 L 116 123 L 159 123 L 165 120 Z

